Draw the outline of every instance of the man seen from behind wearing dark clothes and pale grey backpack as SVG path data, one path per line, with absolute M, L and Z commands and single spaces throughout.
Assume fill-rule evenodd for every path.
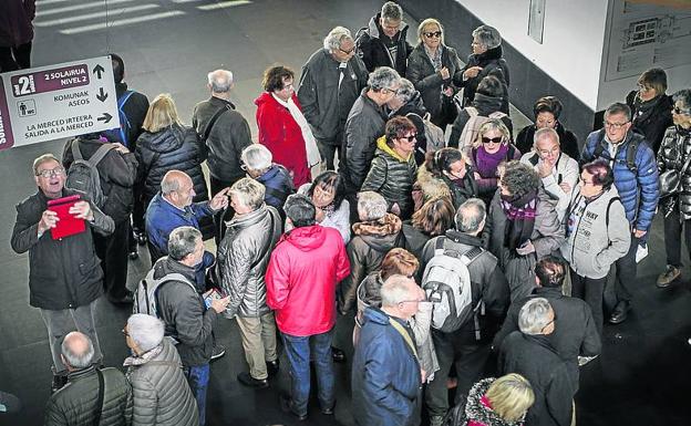
M 509 291 L 504 272 L 498 268 L 497 258 L 483 248 L 479 238 L 486 217 L 485 204 L 481 199 L 466 200 L 456 212 L 455 229 L 430 240 L 423 249 L 422 264 L 425 264 L 425 273 L 422 287 L 427 291 L 427 298 L 431 298 L 432 278 L 435 276 L 431 268 L 432 261 L 437 264 L 435 268 L 454 273 L 457 280 L 462 278 L 451 272 L 452 268 L 454 271 L 465 270 L 465 279 L 470 281 L 467 288 L 471 289 L 465 302 L 465 312 L 468 314 L 456 330 L 435 330 L 435 312 L 432 313 L 432 337 L 440 364 L 425 396 L 432 426 L 441 426 L 448 411 L 446 381 L 452 365 L 455 365 L 458 380 L 457 403 L 458 397 L 466 394 L 473 383 L 481 378 L 489 356 L 489 343 L 508 308 Z M 454 294 L 461 298 L 463 293 Z M 463 310 L 461 299 L 457 300 L 457 304 L 454 301 L 456 311 Z

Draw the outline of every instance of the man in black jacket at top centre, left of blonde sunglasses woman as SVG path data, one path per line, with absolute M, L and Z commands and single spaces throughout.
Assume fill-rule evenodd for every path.
M 408 24 L 403 22 L 403 9 L 393 1 L 382 6 L 362 35 L 357 39 L 359 54 L 369 72 L 380 66 L 391 66 L 405 75 L 408 56 L 413 46 L 406 41 Z

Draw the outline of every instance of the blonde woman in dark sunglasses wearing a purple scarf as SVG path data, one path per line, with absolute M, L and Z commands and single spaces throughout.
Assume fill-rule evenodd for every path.
M 510 142 L 508 128 L 498 118 L 491 118 L 479 126 L 477 139 L 471 150 L 477 191 L 486 205 L 496 193 L 499 181 L 499 164 L 519 159 L 520 152 Z

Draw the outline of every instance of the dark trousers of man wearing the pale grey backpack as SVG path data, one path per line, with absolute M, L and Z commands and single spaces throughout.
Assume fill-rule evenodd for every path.
M 443 416 L 448 411 L 446 381 L 451 366 L 456 367 L 458 386 L 455 403 L 457 403 L 458 397 L 462 394 L 467 395 L 473 384 L 482 377 L 489 357 L 489 344 L 476 341 L 474 335 L 466 330 L 454 333 L 441 333 L 433 330 L 432 339 L 440 370 L 434 373 L 434 380 L 427 385 L 425 402 L 431 416 Z

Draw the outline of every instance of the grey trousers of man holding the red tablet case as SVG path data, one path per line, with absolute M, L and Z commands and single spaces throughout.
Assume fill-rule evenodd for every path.
M 62 353 L 61 345 L 64 336 L 72 331 L 82 332 L 91 339 L 91 344 L 94 346 L 93 364 L 100 364 L 103 361 L 103 353 L 101 353 L 94 323 L 95 309 L 96 301 L 94 300 L 86 305 L 75 309 L 63 309 L 60 311 L 41 310 L 41 318 L 48 329 L 48 342 L 51 349 L 51 356 L 53 357 L 55 374 L 66 374 L 66 367 L 60 359 Z

